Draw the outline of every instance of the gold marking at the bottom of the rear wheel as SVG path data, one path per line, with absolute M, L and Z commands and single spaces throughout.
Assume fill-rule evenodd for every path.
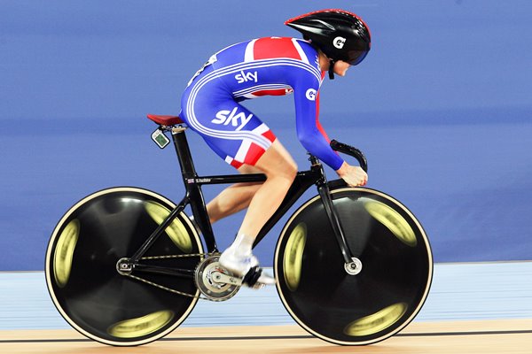
M 137 338 L 149 335 L 166 326 L 174 318 L 174 312 L 163 310 L 148 313 L 137 319 L 125 319 L 107 329 L 109 335 L 118 338 Z

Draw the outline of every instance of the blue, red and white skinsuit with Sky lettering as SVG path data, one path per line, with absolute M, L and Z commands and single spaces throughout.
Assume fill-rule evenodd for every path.
M 317 50 L 309 42 L 281 37 L 240 42 L 217 52 L 192 77 L 182 97 L 181 118 L 229 164 L 254 165 L 276 137 L 239 103 L 293 93 L 301 144 L 337 170 L 343 160 L 317 119 L 323 78 Z

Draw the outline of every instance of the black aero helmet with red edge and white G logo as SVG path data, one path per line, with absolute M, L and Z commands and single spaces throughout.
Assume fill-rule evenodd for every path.
M 288 19 L 286 26 L 303 34 L 303 38 L 332 59 L 357 65 L 372 48 L 370 29 L 356 14 L 339 9 L 309 12 Z

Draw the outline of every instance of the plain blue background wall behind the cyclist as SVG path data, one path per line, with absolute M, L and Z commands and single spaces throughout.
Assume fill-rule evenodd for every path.
M 95 190 L 180 200 L 173 151 L 150 141 L 145 113 L 176 114 L 215 50 L 297 35 L 284 20 L 327 7 L 372 29 L 364 63 L 325 81 L 321 99 L 329 135 L 366 152 L 369 187 L 418 215 L 436 261 L 532 258 L 528 0 L 1 0 L 0 270 L 43 269 L 55 223 Z M 292 97 L 248 106 L 305 166 Z M 200 173 L 231 173 L 189 136 Z M 215 225 L 223 247 L 241 218 Z M 264 264 L 276 233 L 259 247 Z

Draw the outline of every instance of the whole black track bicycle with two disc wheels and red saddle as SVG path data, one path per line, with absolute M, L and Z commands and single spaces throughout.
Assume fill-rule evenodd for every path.
M 184 122 L 148 118 L 159 126 L 152 137 L 160 148 L 172 136 L 183 200 L 174 204 L 140 188 L 100 190 L 59 220 L 46 252 L 46 282 L 60 314 L 82 335 L 115 346 L 155 341 L 183 323 L 200 299 L 225 301 L 239 291 L 243 280 L 218 263 L 202 187 L 266 180 L 260 173 L 198 175 Z M 331 145 L 367 170 L 360 150 Z M 278 295 L 301 327 L 325 341 L 382 341 L 406 327 L 426 300 L 433 275 L 426 233 L 392 196 L 327 181 L 320 161 L 309 155 L 309 162 L 255 245 L 315 185 L 317 196 L 301 204 L 278 237 Z

